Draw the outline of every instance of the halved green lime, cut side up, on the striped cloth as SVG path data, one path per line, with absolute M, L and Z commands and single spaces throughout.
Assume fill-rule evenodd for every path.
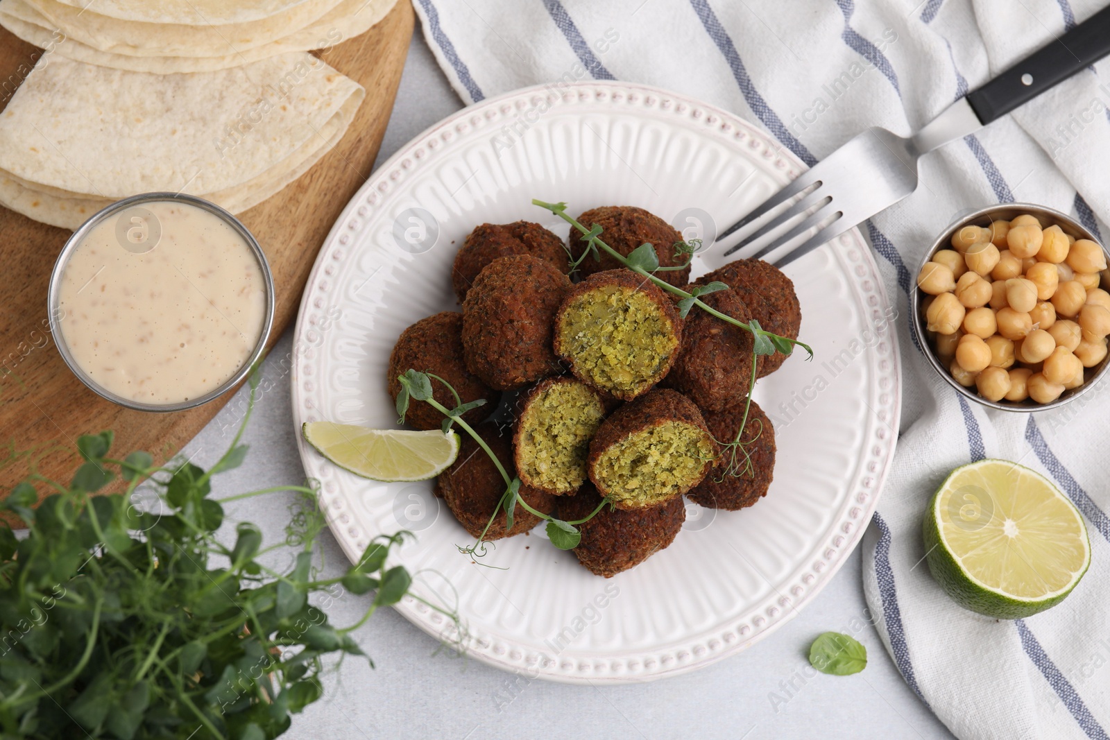
M 1064 599 L 1091 564 L 1079 510 L 1045 476 L 1007 460 L 952 470 L 924 523 L 929 570 L 957 604 L 996 619 Z

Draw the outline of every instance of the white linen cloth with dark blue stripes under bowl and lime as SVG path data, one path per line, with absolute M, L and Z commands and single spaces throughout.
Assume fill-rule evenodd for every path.
M 869 125 L 908 135 L 1101 4 L 414 0 L 465 101 L 558 80 L 649 83 L 745 116 L 809 164 Z M 861 226 L 898 308 L 905 375 L 898 453 L 864 539 L 865 592 L 906 681 L 961 738 L 1107 738 L 1110 392 L 1032 416 L 968 404 L 910 336 L 912 271 L 959 213 L 999 201 L 1049 205 L 1110 233 L 1108 107 L 1110 60 L 928 155 L 917 192 Z M 949 470 L 983 456 L 1053 479 L 1090 531 L 1083 581 L 1061 606 L 1023 621 L 961 609 L 921 560 L 926 503 Z

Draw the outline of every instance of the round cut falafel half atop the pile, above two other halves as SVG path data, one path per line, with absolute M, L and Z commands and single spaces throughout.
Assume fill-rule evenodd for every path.
M 663 379 L 680 343 L 674 304 L 624 268 L 594 273 L 575 285 L 555 316 L 555 353 L 579 381 L 624 401 Z

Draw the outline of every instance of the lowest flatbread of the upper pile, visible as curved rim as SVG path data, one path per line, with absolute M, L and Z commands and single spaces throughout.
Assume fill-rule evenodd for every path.
M 361 36 L 384 18 L 397 0 L 342 0 L 323 18 L 271 43 L 223 57 L 131 57 L 100 51 L 68 39 L 23 0 L 0 2 L 0 26 L 28 43 L 89 64 L 133 72 L 210 72 L 239 67 L 290 51 L 326 49 Z M 326 54 L 325 54 L 326 55 Z

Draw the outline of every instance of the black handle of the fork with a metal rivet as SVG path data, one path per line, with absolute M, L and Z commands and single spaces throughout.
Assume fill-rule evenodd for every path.
M 1110 54 L 1110 7 L 968 93 L 967 99 L 986 125 L 1107 54 Z

